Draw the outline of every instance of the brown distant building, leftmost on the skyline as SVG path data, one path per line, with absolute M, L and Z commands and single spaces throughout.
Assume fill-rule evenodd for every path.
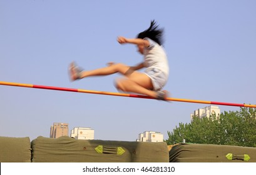
M 50 138 L 68 136 L 68 123 L 53 123 L 50 131 Z

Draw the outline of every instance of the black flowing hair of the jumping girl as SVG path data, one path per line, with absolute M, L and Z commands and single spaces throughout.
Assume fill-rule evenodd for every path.
M 151 21 L 150 27 L 143 32 L 140 32 L 137 38 L 144 39 L 148 37 L 157 42 L 160 46 L 163 44 L 163 29 L 159 29 L 156 21 Z

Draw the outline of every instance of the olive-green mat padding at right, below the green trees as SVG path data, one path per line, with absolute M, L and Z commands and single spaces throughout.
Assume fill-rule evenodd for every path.
M 170 163 L 255 163 L 256 148 L 213 144 L 177 144 Z

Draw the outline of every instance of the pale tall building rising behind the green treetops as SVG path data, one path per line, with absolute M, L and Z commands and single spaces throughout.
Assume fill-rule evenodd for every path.
M 210 115 L 216 114 L 216 116 L 220 115 L 220 108 L 218 106 L 207 106 L 205 108 L 197 109 L 193 114 L 190 114 L 190 119 L 193 119 L 193 116 L 197 116 L 198 118 L 209 118 Z

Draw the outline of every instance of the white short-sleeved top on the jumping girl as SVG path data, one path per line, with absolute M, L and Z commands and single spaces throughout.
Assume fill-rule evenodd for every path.
M 162 71 L 166 77 L 169 75 L 169 64 L 165 50 L 157 42 L 152 39 L 145 37 L 144 39 L 150 42 L 150 46 L 145 47 L 144 49 L 144 66 L 146 70 L 153 68 L 159 69 Z

